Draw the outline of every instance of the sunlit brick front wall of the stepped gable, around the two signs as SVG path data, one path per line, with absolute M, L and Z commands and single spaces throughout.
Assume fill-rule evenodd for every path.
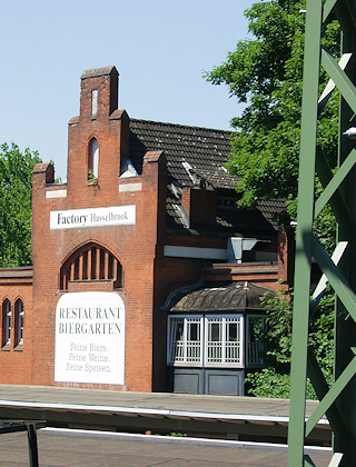
M 128 117 L 112 103 L 112 93 L 117 96 L 115 83 L 117 74 L 112 70 L 82 76 L 80 117 L 69 122 L 67 196 L 56 198 L 52 193 L 47 197 L 49 191 L 60 189 L 48 185 L 50 166 L 41 165 L 33 173 L 33 314 L 38 337 L 32 362 L 34 384 L 55 382 L 56 305 L 63 294 L 59 288 L 60 268 L 78 247 L 93 242 L 117 258 L 123 270 L 119 294 L 126 305 L 126 378 L 121 389 L 149 391 L 152 387 L 154 270 L 157 239 L 165 231 L 164 226 L 158 229 L 158 219 L 165 215 L 166 159 L 161 152 L 148 152 L 142 176 L 119 178 L 120 157 L 128 152 Z M 92 89 L 99 90 L 95 119 L 91 116 Z M 99 142 L 99 172 L 95 182 L 88 182 L 92 137 Z M 50 211 L 53 210 L 132 205 L 136 206 L 136 225 L 49 228 Z M 70 284 L 69 291 L 107 291 L 110 288 L 112 290 L 112 285 L 105 281 L 81 282 Z

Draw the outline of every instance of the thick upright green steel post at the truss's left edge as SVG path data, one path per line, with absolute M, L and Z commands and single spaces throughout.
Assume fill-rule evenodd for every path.
M 296 239 L 295 301 L 290 366 L 290 411 L 288 427 L 288 466 L 304 465 L 305 405 L 309 290 L 314 221 L 314 183 L 318 113 L 319 62 L 322 41 L 322 0 L 307 1 L 301 135 L 299 161 L 298 227 Z M 304 156 L 305 155 L 305 156 Z M 304 215 L 299 216 L 303 206 Z M 307 463 L 307 461 L 306 461 Z

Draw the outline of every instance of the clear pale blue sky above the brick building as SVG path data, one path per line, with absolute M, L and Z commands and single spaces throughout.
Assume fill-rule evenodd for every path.
M 244 109 L 202 79 L 248 38 L 256 0 L 0 1 L 0 143 L 37 150 L 67 178 L 80 76 L 116 66 L 129 117 L 229 130 Z

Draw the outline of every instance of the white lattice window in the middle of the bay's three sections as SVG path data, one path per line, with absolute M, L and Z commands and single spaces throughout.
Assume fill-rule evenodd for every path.
M 237 326 L 237 339 L 229 340 L 229 325 Z M 210 337 L 210 325 L 219 325 L 219 340 Z M 244 316 L 209 315 L 205 316 L 204 366 L 206 368 L 241 368 L 244 367 Z M 215 351 L 214 351 L 215 350 Z M 211 355 L 212 354 L 212 355 Z

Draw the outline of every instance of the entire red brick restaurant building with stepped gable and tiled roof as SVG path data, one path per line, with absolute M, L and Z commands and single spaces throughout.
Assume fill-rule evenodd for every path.
M 200 370 L 243 380 L 247 360 L 231 344 L 227 361 L 227 332 L 244 340 L 246 312 L 263 312 L 247 301 L 265 289 L 249 281 L 275 288 L 290 279 L 288 235 L 273 220 L 283 207 L 236 208 L 236 178 L 224 169 L 229 132 L 134 120 L 117 106 L 116 68 L 85 71 L 80 115 L 68 128 L 67 182 L 55 182 L 50 163 L 33 170 L 33 267 L 0 269 L 0 382 L 226 393 L 204 386 Z M 209 290 L 231 284 L 229 324 L 227 315 L 224 322 L 206 316 L 221 304 L 200 306 L 196 321 L 184 322 L 181 312 L 192 310 L 177 305 L 185 295 L 208 290 L 212 300 Z M 234 305 L 237 292 L 245 305 Z M 167 325 L 170 311 L 177 319 Z M 195 332 L 192 360 L 182 326 Z M 211 365 L 204 326 L 225 339 Z M 186 374 L 198 386 L 185 386 Z M 227 391 L 240 394 L 234 378 Z

